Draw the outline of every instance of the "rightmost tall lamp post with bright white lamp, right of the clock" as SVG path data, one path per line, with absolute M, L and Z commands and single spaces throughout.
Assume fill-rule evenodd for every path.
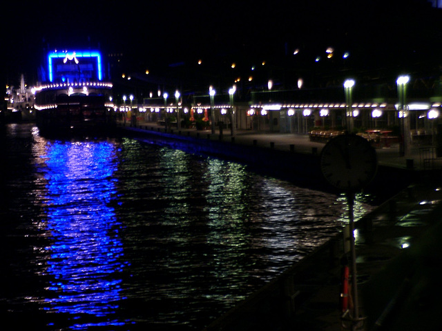
M 408 111 L 406 106 L 406 90 L 407 90 L 407 83 L 410 81 L 409 76 L 399 76 L 396 80 L 396 84 L 398 86 L 398 99 L 399 99 L 399 106 L 398 106 L 398 114 L 399 114 L 399 120 L 401 121 L 401 139 L 399 142 L 399 155 L 401 157 L 405 156 L 406 154 L 409 154 L 410 152 L 410 120 L 408 118 Z

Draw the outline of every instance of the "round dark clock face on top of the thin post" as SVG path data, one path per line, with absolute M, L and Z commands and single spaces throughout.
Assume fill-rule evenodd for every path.
M 320 168 L 335 188 L 355 192 L 374 179 L 378 158 L 367 139 L 356 134 L 340 134 L 323 147 Z

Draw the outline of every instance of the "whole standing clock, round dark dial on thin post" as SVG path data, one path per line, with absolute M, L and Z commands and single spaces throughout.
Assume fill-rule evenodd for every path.
M 363 317 L 359 316 L 356 247 L 354 239 L 354 198 L 376 175 L 377 154 L 367 139 L 356 134 L 341 134 L 330 139 L 320 153 L 320 168 L 324 178 L 341 192 L 345 192 L 349 210 L 349 239 L 352 258 L 353 312 L 349 315 L 352 330 L 360 330 Z M 347 318 L 346 313 L 343 319 Z

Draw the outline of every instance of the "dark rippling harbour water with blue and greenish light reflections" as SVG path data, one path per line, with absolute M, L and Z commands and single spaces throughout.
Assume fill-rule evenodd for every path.
M 346 218 L 343 197 L 237 163 L 5 131 L 0 325 L 15 330 L 200 330 Z

